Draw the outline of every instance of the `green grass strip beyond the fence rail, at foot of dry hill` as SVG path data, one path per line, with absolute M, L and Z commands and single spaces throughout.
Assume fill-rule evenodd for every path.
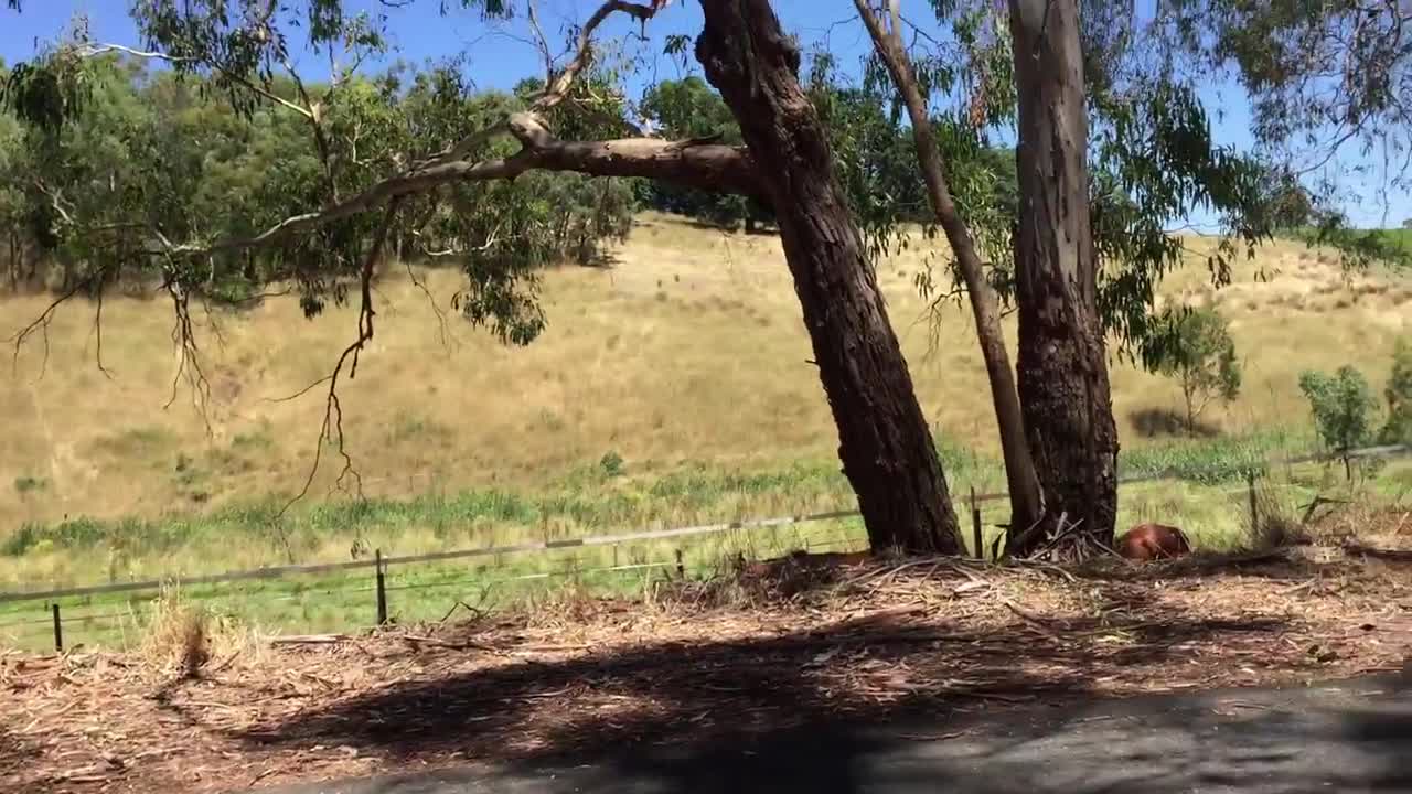
M 1120 455 L 1120 473 L 1200 486 L 1240 483 L 1264 473 L 1267 459 L 1300 452 L 1306 442 L 1308 434 L 1296 431 L 1168 441 Z M 994 458 L 946 442 L 938 446 L 957 503 L 973 487 L 1004 490 L 1004 469 Z M 284 504 L 271 497 L 157 519 L 28 523 L 0 541 L 0 583 L 68 586 L 339 561 L 349 558 L 356 540 L 384 554 L 419 554 L 853 509 L 856 500 L 834 462 L 812 462 L 775 470 L 686 466 L 655 478 L 594 465 L 542 492 L 337 500 L 280 516 Z M 49 571 L 45 576 L 31 571 L 40 555 L 66 557 L 64 565 L 35 568 Z

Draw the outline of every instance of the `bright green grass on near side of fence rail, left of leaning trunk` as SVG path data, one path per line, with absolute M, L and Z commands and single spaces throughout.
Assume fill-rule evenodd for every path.
M 493 610 L 565 592 L 634 598 L 654 581 L 719 574 L 736 555 L 778 557 L 794 550 L 850 551 L 867 538 L 858 520 L 770 530 L 736 530 L 676 541 L 552 550 L 429 564 L 390 565 L 387 599 L 397 623 L 441 620 L 457 605 Z M 678 552 L 681 557 L 678 557 Z M 264 633 L 354 632 L 376 623 L 371 568 L 287 579 L 185 585 L 182 598 Z M 158 593 L 100 593 L 61 599 L 65 643 L 134 647 Z M 49 605 L 0 603 L 0 644 L 52 647 Z

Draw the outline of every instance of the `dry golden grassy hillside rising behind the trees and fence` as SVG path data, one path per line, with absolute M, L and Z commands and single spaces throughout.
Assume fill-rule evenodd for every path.
M 1203 244 L 1190 242 L 1196 251 Z M 964 463 L 995 448 L 984 369 L 963 308 L 947 307 L 940 326 L 928 325 L 912 284 L 929 253 L 885 261 L 878 277 L 923 408 L 947 448 L 953 486 L 986 487 L 997 482 L 994 468 Z M 1255 280 L 1257 270 L 1268 280 Z M 443 308 L 460 285 L 455 273 L 421 277 Z M 1166 291 L 1169 300 L 1214 302 L 1231 319 L 1247 373 L 1241 400 L 1206 417 L 1223 434 L 1303 424 L 1300 370 L 1354 363 L 1380 383 L 1394 340 L 1412 333 L 1412 281 L 1350 280 L 1332 257 L 1302 244 L 1267 247 L 1220 292 L 1204 277 L 1204 260 L 1193 256 Z M 544 298 L 549 329 L 530 348 L 511 349 L 455 316 L 438 322 L 405 271 L 393 268 L 383 278 L 377 338 L 357 379 L 342 389 L 347 446 L 364 493 L 442 503 L 466 492 L 541 502 L 592 493 L 594 504 L 610 506 L 594 507 L 582 521 L 596 526 L 849 502 L 777 239 L 644 216 L 616 251 L 616 267 L 549 273 Z M 0 328 L 10 333 L 48 300 L 4 300 Z M 169 521 L 152 521 L 172 514 L 219 519 L 206 524 L 215 537 L 229 521 L 267 523 L 277 499 L 302 483 L 323 411 L 316 391 L 278 398 L 328 374 L 354 332 L 352 309 L 311 322 L 287 298 L 241 315 L 199 318 L 212 397 L 208 435 L 185 386 L 162 407 L 172 396 L 175 365 L 169 305 L 104 302 L 102 353 L 110 376 L 96 366 L 93 309 L 66 307 L 49 328 L 48 360 L 37 342 L 20 352 L 13 373 L 0 376 L 7 418 L 0 543 L 24 552 L 4 571 L 8 581 L 82 578 L 83 569 L 119 575 L 112 550 L 104 561 L 44 557 L 48 535 L 31 528 L 27 538 L 16 537 L 25 523 L 68 517 L 73 524 L 83 516 L 113 528 L 71 534 L 117 537 L 126 537 L 123 526 L 127 534 L 181 534 L 162 528 Z M 1014 343 L 1014 326 L 1008 331 Z M 1121 363 L 1113 381 L 1125 454 L 1138 451 L 1169 427 L 1179 391 Z M 337 469 L 325 466 L 315 503 L 337 497 Z M 545 510 L 531 513 L 510 511 L 496 521 L 545 521 Z M 299 557 L 346 558 L 340 530 L 357 531 L 357 520 L 304 516 L 311 527 L 332 527 L 333 538 L 306 540 Z M 425 514 L 409 521 L 424 530 L 421 540 L 408 541 L 418 550 L 466 543 L 438 533 Z M 144 558 L 140 568 L 233 568 L 284 554 L 268 538 L 246 545 L 227 544 L 215 561 L 201 548 L 184 557 L 181 543 L 157 544 L 151 550 L 161 555 Z M 136 562 L 121 564 L 130 565 Z

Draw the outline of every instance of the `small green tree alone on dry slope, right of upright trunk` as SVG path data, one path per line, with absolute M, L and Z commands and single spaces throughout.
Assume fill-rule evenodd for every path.
M 1186 429 L 1196 431 L 1202 411 L 1220 398 L 1230 403 L 1240 396 L 1241 366 L 1230 324 L 1216 309 L 1168 309 L 1162 316 L 1171 342 L 1161 348 L 1158 372 L 1182 384 L 1186 403 Z

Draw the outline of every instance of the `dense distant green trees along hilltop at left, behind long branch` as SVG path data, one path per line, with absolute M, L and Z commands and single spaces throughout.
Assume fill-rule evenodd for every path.
M 134 223 L 167 240 L 247 239 L 289 206 L 316 205 L 329 192 L 354 194 L 373 174 L 432 157 L 441 140 L 524 107 L 525 96 L 542 88 L 525 81 L 511 93 L 477 92 L 452 65 L 397 65 L 336 86 L 275 76 L 270 102 L 243 106 L 219 79 L 119 54 L 93 58 L 85 76 L 85 113 L 56 134 L 0 113 L 0 253 L 13 288 L 68 291 L 99 251 L 119 260 L 109 283 L 150 278 L 150 251 L 162 242 L 124 235 Z M 14 85 L 10 79 L 0 65 L 0 85 Z M 311 137 L 306 120 L 285 109 L 301 96 L 316 97 L 325 138 Z M 602 120 L 611 114 L 561 116 L 562 127 L 585 136 L 623 126 Z M 513 143 L 491 141 L 483 154 L 513 151 Z M 538 267 L 597 263 L 603 243 L 623 239 L 637 209 L 627 178 L 555 171 L 445 186 L 438 199 L 408 202 L 388 230 L 388 247 L 398 257 L 476 270 L 476 300 L 486 302 L 515 302 L 510 283 Z M 72 233 L 79 223 L 85 233 Z M 337 271 L 356 268 L 373 233 L 367 220 L 330 225 L 273 246 L 213 251 L 182 267 L 203 268 L 196 284 L 215 300 L 240 301 L 250 285 L 271 278 L 309 281 L 316 288 L 301 292 L 312 314 L 328 295 L 340 297 L 332 285 Z M 329 251 L 342 263 L 335 273 L 315 267 Z M 330 288 L 318 288 L 319 280 Z M 524 309 L 511 312 L 521 332 L 538 324 L 537 309 Z

